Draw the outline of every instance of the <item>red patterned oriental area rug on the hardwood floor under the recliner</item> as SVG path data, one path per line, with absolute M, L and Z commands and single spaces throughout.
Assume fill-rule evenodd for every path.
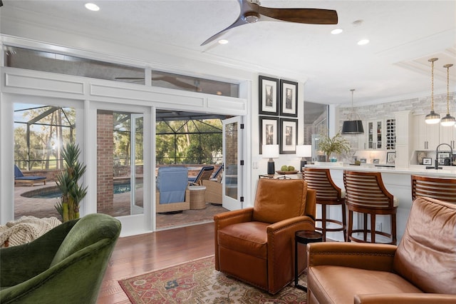
M 305 275 L 300 282 L 304 283 Z M 140 303 L 306 303 L 306 293 L 286 286 L 276 295 L 229 278 L 214 269 L 214 255 L 119 281 Z M 304 283 L 305 284 L 305 283 Z

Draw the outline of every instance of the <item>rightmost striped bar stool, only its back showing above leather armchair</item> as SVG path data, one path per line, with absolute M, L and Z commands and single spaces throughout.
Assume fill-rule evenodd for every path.
M 412 200 L 418 196 L 456 203 L 456 179 L 412 176 Z

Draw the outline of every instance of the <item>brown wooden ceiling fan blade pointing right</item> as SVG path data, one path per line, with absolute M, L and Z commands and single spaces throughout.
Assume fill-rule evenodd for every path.
M 301 24 L 337 24 L 337 12 L 332 9 L 274 9 L 259 6 L 259 14 L 281 21 Z

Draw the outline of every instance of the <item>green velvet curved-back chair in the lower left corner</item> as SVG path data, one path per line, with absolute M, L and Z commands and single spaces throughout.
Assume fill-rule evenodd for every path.
M 0 303 L 96 303 L 120 221 L 89 214 L 0 249 Z

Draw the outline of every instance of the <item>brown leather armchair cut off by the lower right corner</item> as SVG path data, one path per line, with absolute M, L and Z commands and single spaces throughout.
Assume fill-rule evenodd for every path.
M 311 243 L 307 303 L 456 303 L 456 204 L 418 197 L 400 244 Z

